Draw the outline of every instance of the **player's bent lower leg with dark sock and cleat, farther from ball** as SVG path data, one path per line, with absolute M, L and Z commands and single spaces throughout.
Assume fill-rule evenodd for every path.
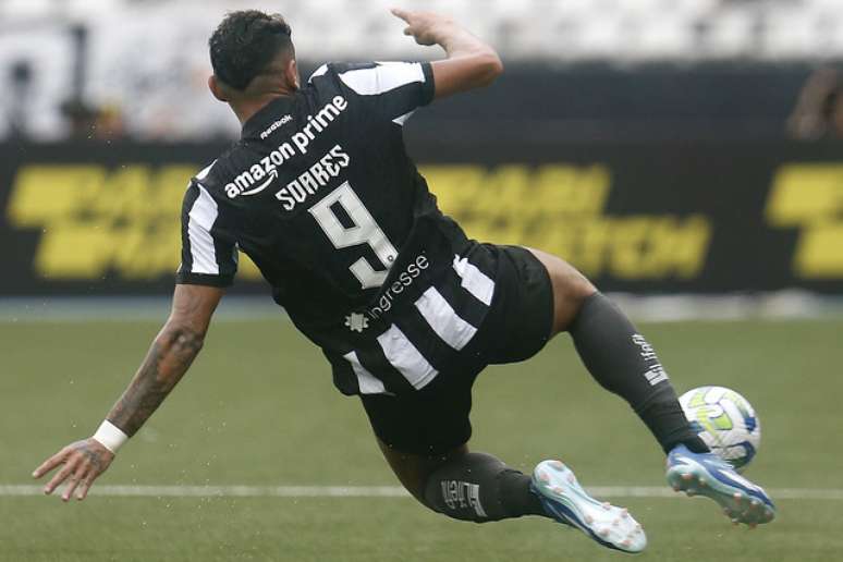
M 588 496 L 559 461 L 539 463 L 529 477 L 492 455 L 468 452 L 466 445 L 422 456 L 378 442 L 404 487 L 449 517 L 487 523 L 540 515 L 577 528 L 608 548 L 640 552 L 647 546 L 642 526 L 626 510 Z

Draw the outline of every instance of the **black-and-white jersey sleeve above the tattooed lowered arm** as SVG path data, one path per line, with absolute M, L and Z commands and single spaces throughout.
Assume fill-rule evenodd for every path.
M 182 264 L 180 284 L 229 286 L 237 271 L 237 245 L 220 228 L 217 201 L 197 182 L 187 187 L 182 204 Z

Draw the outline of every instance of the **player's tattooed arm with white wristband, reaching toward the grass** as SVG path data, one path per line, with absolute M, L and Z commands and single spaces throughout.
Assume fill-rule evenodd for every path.
M 198 355 L 222 294 L 221 289 L 212 286 L 175 285 L 170 318 L 129 388 L 108 414 L 112 431 L 132 437 L 163 402 Z M 40 478 L 61 466 L 45 486 L 45 493 L 52 493 L 66 480 L 61 499 L 68 501 L 74 490 L 77 499 L 85 499 L 90 485 L 114 459 L 114 452 L 107 447 L 109 443 L 102 442 L 107 440 L 97 436 L 69 444 L 35 469 L 33 476 Z M 113 444 L 112 449 L 115 449 Z

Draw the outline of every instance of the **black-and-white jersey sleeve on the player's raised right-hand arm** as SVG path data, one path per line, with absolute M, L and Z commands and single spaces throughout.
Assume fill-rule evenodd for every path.
M 344 89 L 364 98 L 381 119 L 399 125 L 430 103 L 436 93 L 429 62 L 331 63 L 320 66 L 310 81 L 323 74 L 335 74 Z

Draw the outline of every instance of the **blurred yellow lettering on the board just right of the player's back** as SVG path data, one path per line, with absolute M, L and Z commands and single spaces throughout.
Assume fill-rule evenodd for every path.
M 702 215 L 609 216 L 603 166 L 508 164 L 423 168 L 442 210 L 469 236 L 551 252 L 589 276 L 693 279 L 712 227 Z

